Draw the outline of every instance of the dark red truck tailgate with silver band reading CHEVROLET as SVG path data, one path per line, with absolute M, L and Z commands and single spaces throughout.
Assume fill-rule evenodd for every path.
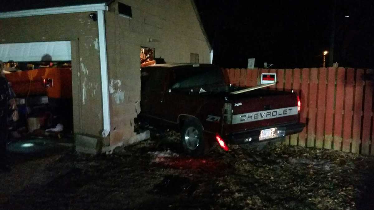
M 298 101 L 295 93 L 253 90 L 231 95 L 230 102 L 232 124 L 225 125 L 226 132 L 241 132 L 298 121 Z

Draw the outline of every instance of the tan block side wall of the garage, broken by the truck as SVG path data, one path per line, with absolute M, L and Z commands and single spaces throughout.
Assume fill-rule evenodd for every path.
M 140 47 L 155 48 L 166 62 L 210 63 L 210 49 L 191 0 L 118 0 L 132 7 L 132 18 L 118 15 L 117 1 L 105 12 L 110 84 L 110 145 L 134 141 L 140 112 Z M 152 39 L 152 41 L 149 41 Z M 114 130 L 115 129 L 115 130 Z

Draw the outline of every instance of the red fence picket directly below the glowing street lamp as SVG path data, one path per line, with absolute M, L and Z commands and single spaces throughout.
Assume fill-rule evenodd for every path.
M 318 78 L 318 101 L 317 101 L 317 125 L 316 125 L 316 148 L 324 146 L 325 131 L 325 99 L 326 99 L 326 68 L 319 68 Z

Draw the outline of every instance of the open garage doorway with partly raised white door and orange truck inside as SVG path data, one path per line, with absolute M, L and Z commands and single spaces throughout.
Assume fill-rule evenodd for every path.
M 16 95 L 19 120 L 8 120 L 10 140 L 73 139 L 70 41 L 0 44 L 5 77 Z

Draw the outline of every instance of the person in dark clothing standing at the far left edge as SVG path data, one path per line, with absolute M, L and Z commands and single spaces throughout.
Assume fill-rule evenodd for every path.
M 8 80 L 4 75 L 4 64 L 0 61 L 0 171 L 9 170 L 7 165 L 6 144 L 8 142 L 7 116 L 9 110 L 13 110 L 13 121 L 18 120 L 18 112 L 15 101 L 15 94 L 10 88 Z

